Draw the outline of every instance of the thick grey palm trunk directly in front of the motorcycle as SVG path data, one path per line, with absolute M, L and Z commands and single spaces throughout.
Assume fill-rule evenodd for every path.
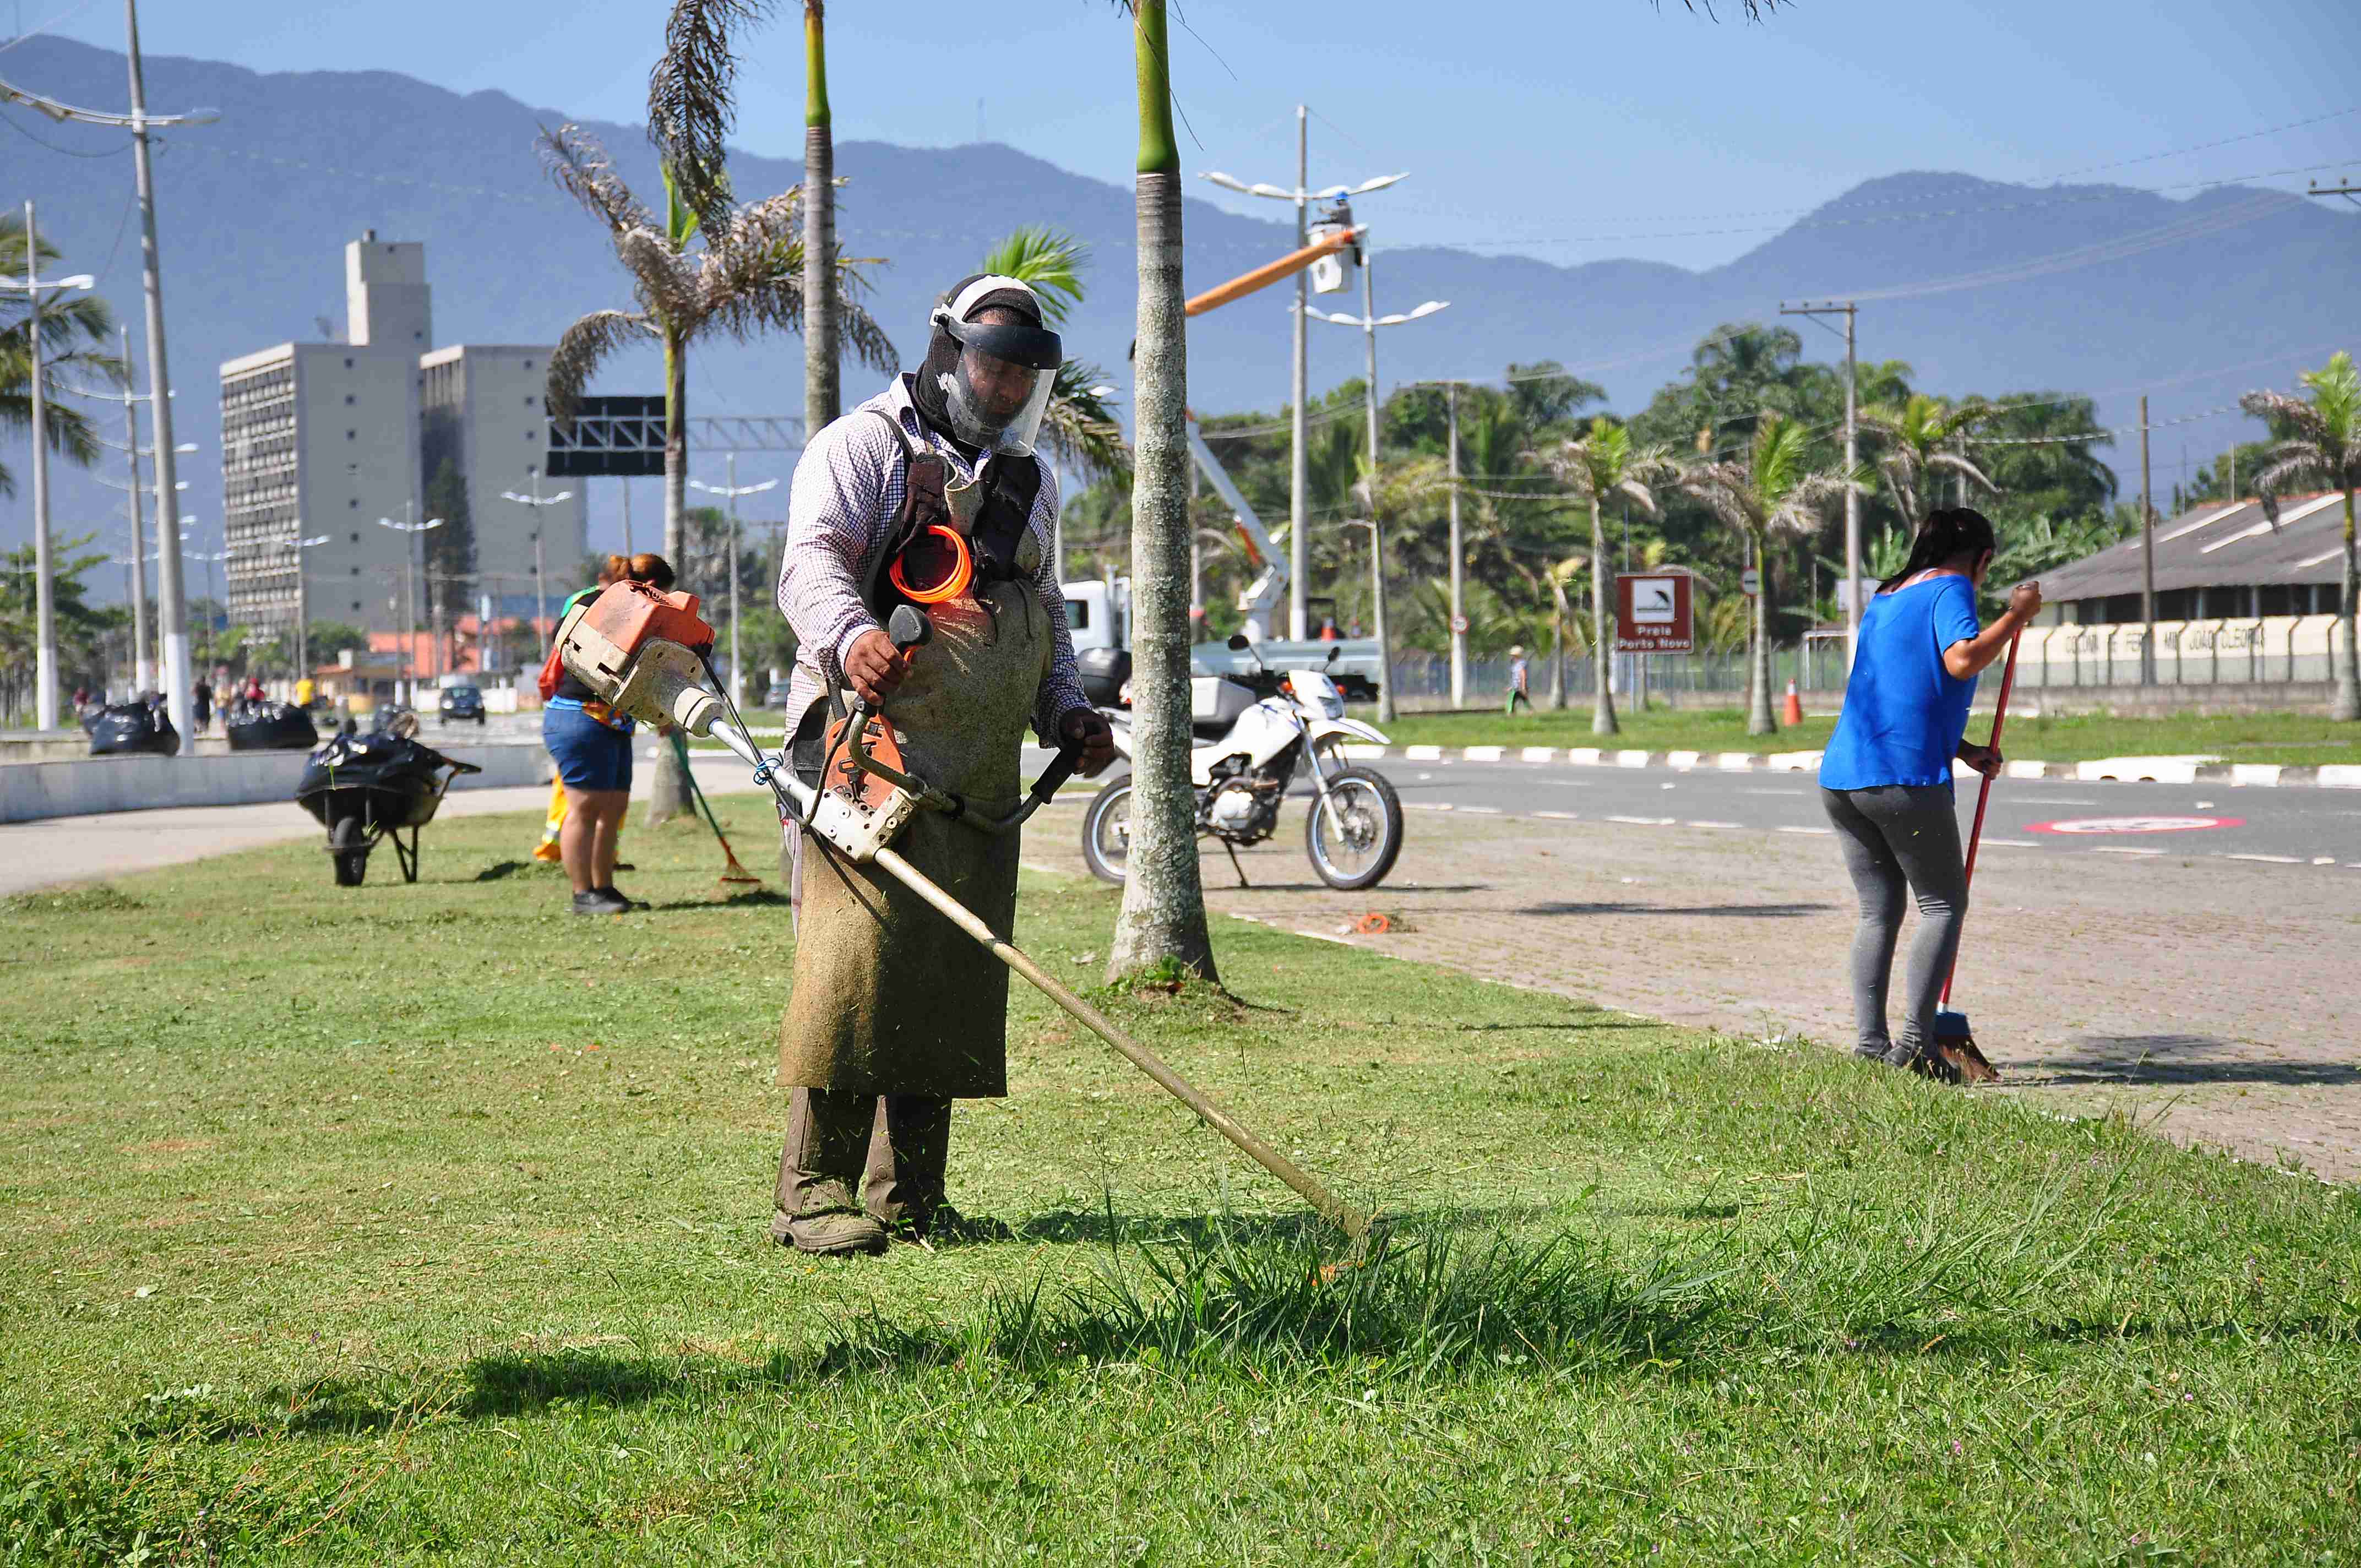
M 1188 319 L 1180 302 L 1180 156 L 1173 146 L 1164 0 L 1136 0 L 1140 92 L 1138 373 L 1131 470 L 1131 852 L 1107 980 L 1166 961 L 1214 980 L 1197 876 L 1188 685 Z

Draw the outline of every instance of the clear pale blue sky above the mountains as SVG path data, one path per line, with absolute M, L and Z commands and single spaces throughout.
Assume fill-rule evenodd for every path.
M 257 71 L 387 68 L 640 120 L 663 9 L 149 0 L 142 40 Z M 1716 26 L 1679 0 L 1192 0 L 1173 50 L 1185 168 L 1287 184 L 1303 99 L 1313 184 L 1412 172 L 1362 203 L 1388 243 L 1683 267 L 1728 262 L 1799 210 L 1910 168 L 2172 194 L 2323 163 L 2361 172 L 2356 0 L 1801 0 L 1759 26 L 1735 9 L 1721 0 Z M 803 146 L 798 12 L 789 0 L 746 35 L 737 139 L 760 153 Z M 123 19 L 113 0 L 0 0 L 0 31 L 19 26 L 120 47 Z M 1129 177 L 1129 35 L 1105 0 L 841 2 L 829 54 L 838 137 L 982 132 Z M 1563 205 L 1570 168 L 1580 208 Z M 2302 189 L 2333 172 L 2262 182 Z

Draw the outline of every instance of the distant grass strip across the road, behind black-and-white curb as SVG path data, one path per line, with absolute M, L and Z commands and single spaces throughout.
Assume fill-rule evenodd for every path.
M 1997 687 L 1990 687 L 1988 694 Z M 2038 701 L 2038 694 L 2026 694 Z M 1369 718 L 1374 711 L 1355 708 Z M 1806 718 L 1778 734 L 1747 734 L 1742 708 L 1650 708 L 1620 713 L 1622 734 L 1591 734 L 1589 706 L 1563 713 L 1502 716 L 1499 708 L 1461 713 L 1402 713 L 1384 725 L 1398 746 L 1634 746 L 1641 751 L 1818 751 L 1834 718 Z M 1971 739 L 1993 730 L 1990 706 L 1979 711 Z M 2002 751 L 2049 763 L 2082 763 L 2101 756 L 2219 756 L 2226 763 L 2361 763 L 2361 725 L 2340 725 L 2311 713 L 2236 713 L 2200 718 L 2033 718 L 2019 706 L 2002 730 Z

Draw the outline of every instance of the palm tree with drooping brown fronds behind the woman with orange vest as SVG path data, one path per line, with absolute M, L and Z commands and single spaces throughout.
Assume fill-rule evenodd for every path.
M 680 170 L 666 165 L 659 224 L 581 128 L 543 130 L 541 158 L 550 177 L 607 224 L 637 307 L 595 309 L 564 331 L 550 354 L 550 416 L 571 418 L 590 375 L 616 349 L 649 340 L 663 347 L 663 553 L 678 562 L 689 484 L 689 345 L 715 333 L 746 342 L 765 331 L 803 328 L 800 191 L 732 208 L 720 170 L 682 182 Z M 704 243 L 692 250 L 696 239 Z M 878 371 L 895 366 L 892 342 L 869 312 L 848 305 L 845 326 L 866 364 Z M 666 822 L 682 810 L 687 777 L 675 753 L 659 746 L 647 819 Z

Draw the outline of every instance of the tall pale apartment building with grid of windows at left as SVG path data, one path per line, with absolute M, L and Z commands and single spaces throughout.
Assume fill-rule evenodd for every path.
M 290 628 L 302 602 L 312 621 L 399 631 L 404 560 L 416 574 L 418 538 L 378 520 L 425 517 L 425 486 L 446 456 L 465 479 L 482 588 L 529 595 L 534 508 L 501 491 L 529 489 L 527 468 L 541 463 L 548 349 L 434 349 L 425 246 L 373 229 L 345 246 L 345 338 L 281 342 L 222 366 L 231 621 Z M 588 517 L 581 486 L 571 489 L 538 520 L 557 581 L 571 581 L 586 553 Z M 316 536 L 326 541 L 297 550 Z M 418 581 L 416 593 L 423 626 L 430 590 Z

